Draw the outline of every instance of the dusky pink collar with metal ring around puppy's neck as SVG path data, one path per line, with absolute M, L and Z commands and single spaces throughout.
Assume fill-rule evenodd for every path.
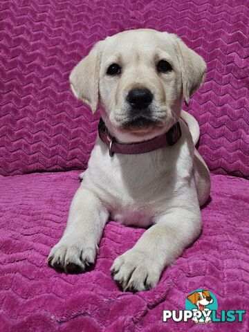
M 165 145 L 174 145 L 179 138 L 181 138 L 181 126 L 176 122 L 167 133 L 151 138 L 151 140 L 144 140 L 138 143 L 118 143 L 115 137 L 111 136 L 107 130 L 102 118 L 98 124 L 98 134 L 102 142 L 109 147 L 109 156 L 113 154 L 145 154 L 145 152 L 154 151 Z

